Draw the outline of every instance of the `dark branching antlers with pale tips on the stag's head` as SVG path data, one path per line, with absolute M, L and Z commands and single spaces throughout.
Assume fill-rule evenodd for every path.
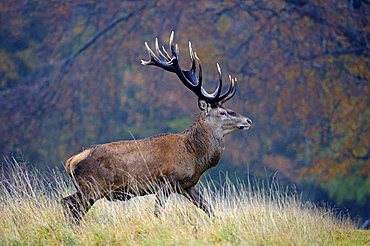
M 143 65 L 154 65 L 157 67 L 161 67 L 166 71 L 175 73 L 181 82 L 195 95 L 198 96 L 200 100 L 204 100 L 209 103 L 212 107 L 218 107 L 230 98 L 232 98 L 236 91 L 235 82 L 236 79 L 233 79 L 229 75 L 230 79 L 230 86 L 229 89 L 221 95 L 222 91 L 222 74 L 221 68 L 217 63 L 217 72 L 219 75 L 219 83 L 217 88 L 212 93 L 208 93 L 202 86 L 202 66 L 200 64 L 200 59 L 197 56 L 197 53 L 193 51 L 191 43 L 189 42 L 189 53 L 190 53 L 190 60 L 191 60 L 191 68 L 190 70 L 182 70 L 179 64 L 180 60 L 180 52 L 179 48 L 173 44 L 174 39 L 174 32 L 171 33 L 170 36 L 170 50 L 171 56 L 166 51 L 166 49 L 162 46 L 162 51 L 158 45 L 158 39 L 155 39 L 155 53 L 150 49 L 147 42 L 145 42 L 145 47 L 148 51 L 150 60 L 144 61 L 141 60 L 141 64 Z M 196 67 L 199 67 L 198 77 L 196 76 Z

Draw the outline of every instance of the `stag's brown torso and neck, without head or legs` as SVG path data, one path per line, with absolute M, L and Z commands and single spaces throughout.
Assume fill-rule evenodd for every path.
M 183 133 L 96 145 L 68 159 L 66 171 L 80 189 L 96 182 L 104 195 L 132 182 L 144 192 L 148 181 L 163 178 L 187 189 L 218 163 L 224 149 L 223 136 L 205 124 L 200 116 Z

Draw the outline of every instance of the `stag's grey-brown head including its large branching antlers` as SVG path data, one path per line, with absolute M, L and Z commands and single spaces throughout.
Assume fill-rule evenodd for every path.
M 162 50 L 159 48 L 157 38 L 155 39 L 155 52 L 145 42 L 150 60 L 141 60 L 141 64 L 154 65 L 175 73 L 180 81 L 198 96 L 198 107 L 202 111 L 204 120 L 222 135 L 236 130 L 249 129 L 252 124 L 251 119 L 223 107 L 223 104 L 231 99 L 236 92 L 236 78 L 229 75 L 230 86 L 226 92 L 222 93 L 222 73 L 217 63 L 219 83 L 214 92 L 208 93 L 202 86 L 202 66 L 196 52 L 192 49 L 191 43 L 189 42 L 191 68 L 190 70 L 182 70 L 179 63 L 179 48 L 177 44 L 174 45 L 173 39 L 174 32 L 171 33 L 169 42 L 171 55 L 163 46 Z M 199 68 L 198 76 L 196 74 L 197 66 Z

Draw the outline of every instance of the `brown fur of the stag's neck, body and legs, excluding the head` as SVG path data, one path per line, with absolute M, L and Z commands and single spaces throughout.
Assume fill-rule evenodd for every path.
M 72 156 L 66 171 L 78 192 L 63 199 L 66 212 L 79 221 L 100 198 L 128 200 L 157 193 L 164 180 L 172 191 L 191 191 L 201 175 L 217 165 L 224 150 L 223 135 L 212 127 L 201 115 L 182 133 L 100 144 Z M 210 212 L 196 200 L 201 197 L 194 199 Z

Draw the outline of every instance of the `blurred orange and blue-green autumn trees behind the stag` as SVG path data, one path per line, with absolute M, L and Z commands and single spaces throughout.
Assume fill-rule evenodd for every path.
M 277 172 L 365 211 L 369 12 L 368 1 L 345 0 L 2 1 L 0 152 L 61 167 L 92 144 L 190 126 L 196 98 L 140 65 L 144 42 L 175 30 L 182 65 L 191 40 L 206 88 L 219 62 L 238 78 L 227 106 L 254 121 L 228 137 L 220 169 Z

